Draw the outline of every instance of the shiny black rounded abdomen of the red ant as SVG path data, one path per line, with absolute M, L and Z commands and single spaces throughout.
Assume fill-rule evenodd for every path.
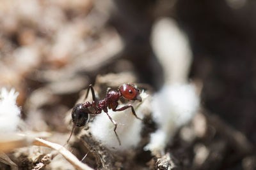
M 87 124 L 90 115 L 88 114 L 88 109 L 84 108 L 83 104 L 76 104 L 72 110 L 72 122 L 77 127 L 84 126 Z

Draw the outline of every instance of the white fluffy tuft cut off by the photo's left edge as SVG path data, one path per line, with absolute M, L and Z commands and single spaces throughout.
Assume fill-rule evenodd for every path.
M 8 92 L 5 88 L 0 93 L 0 132 L 14 132 L 20 120 L 20 109 L 16 105 L 19 95 L 15 89 Z

